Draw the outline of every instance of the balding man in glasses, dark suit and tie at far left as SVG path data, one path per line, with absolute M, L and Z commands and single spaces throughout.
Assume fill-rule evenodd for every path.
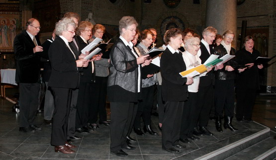
M 31 18 L 26 23 L 26 30 L 14 38 L 14 54 L 16 59 L 15 81 L 19 83 L 19 131 L 35 132 L 41 128 L 34 125 L 38 107 L 40 57 L 43 51 L 37 37 L 40 31 L 39 21 Z

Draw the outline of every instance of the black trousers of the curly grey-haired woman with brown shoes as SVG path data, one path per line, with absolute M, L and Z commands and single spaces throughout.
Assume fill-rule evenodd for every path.
M 67 128 L 72 99 L 72 89 L 56 87 L 51 88 L 53 90 L 55 100 L 51 145 L 61 146 L 65 145 L 65 142 L 67 141 Z

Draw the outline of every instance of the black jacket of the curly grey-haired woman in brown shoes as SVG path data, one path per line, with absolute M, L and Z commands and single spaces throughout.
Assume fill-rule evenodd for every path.
M 52 65 L 49 86 L 61 88 L 79 87 L 79 71 L 76 59 L 59 36 L 56 37 L 50 46 L 49 59 Z

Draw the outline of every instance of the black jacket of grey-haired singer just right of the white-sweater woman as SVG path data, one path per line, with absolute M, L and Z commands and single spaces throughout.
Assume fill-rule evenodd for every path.
M 209 45 L 210 46 L 210 45 Z M 200 50 L 201 50 L 201 64 L 204 64 L 204 62 L 210 57 L 210 54 L 207 50 L 207 48 L 204 46 L 202 42 L 200 42 Z M 210 53 L 214 54 L 213 47 L 210 46 Z M 209 86 L 211 84 L 214 84 L 215 77 L 214 77 L 214 71 L 210 71 L 206 74 L 206 76 L 200 77 L 199 86 Z

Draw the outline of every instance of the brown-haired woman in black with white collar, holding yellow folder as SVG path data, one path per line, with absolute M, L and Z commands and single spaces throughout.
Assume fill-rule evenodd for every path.
M 162 75 L 162 98 L 165 101 L 165 114 L 162 123 L 162 148 L 171 153 L 179 151 L 173 147 L 180 145 L 181 116 L 184 101 L 187 100 L 187 85 L 193 83 L 192 77 L 182 78 L 179 73 L 186 70 L 182 52 L 178 50 L 183 43 L 182 32 L 173 28 L 166 31 L 164 41 L 167 49 L 160 61 Z

